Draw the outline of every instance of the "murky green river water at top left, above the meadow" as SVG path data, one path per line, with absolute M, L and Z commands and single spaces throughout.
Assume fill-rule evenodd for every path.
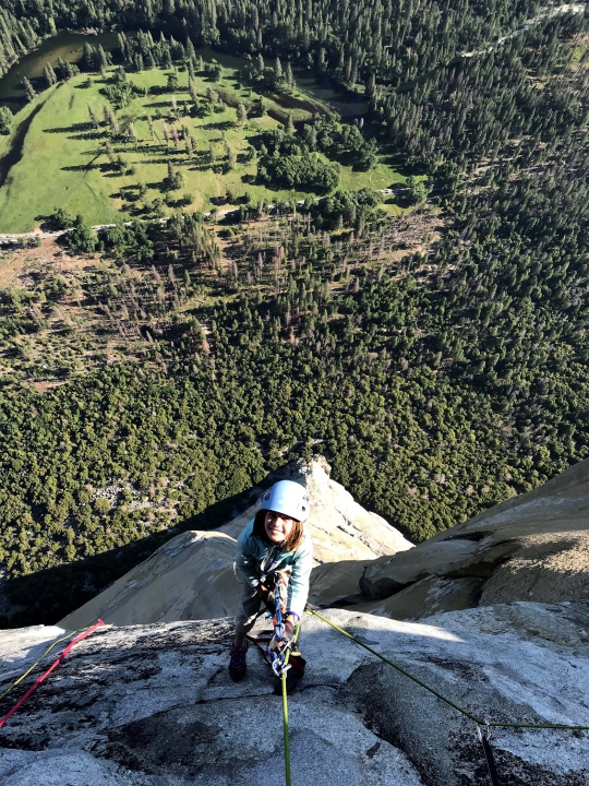
M 0 79 L 0 103 L 7 104 L 15 111 L 24 103 L 23 76 L 29 80 L 43 76 L 43 70 L 47 63 L 52 68 L 57 66 L 58 58 L 76 62 L 82 57 L 84 44 L 97 46 L 103 45 L 107 51 L 117 46 L 116 33 L 99 33 L 98 35 L 83 35 L 82 33 L 59 33 L 52 38 L 47 38 L 38 49 L 25 55 L 19 62 Z

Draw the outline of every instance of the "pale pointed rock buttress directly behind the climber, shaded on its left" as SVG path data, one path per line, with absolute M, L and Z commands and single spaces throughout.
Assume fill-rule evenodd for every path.
M 375 513 L 365 511 L 329 478 L 325 460 L 293 463 L 268 483 L 288 478 L 302 483 L 311 499 L 306 523 L 313 538 L 316 572 L 311 600 L 330 605 L 359 591 L 364 565 L 411 544 Z M 262 488 L 252 489 L 256 500 Z M 215 532 L 188 532 L 159 548 L 115 584 L 65 617 L 60 624 L 76 629 L 101 617 L 116 624 L 169 622 L 231 616 L 240 588 L 233 574 L 236 539 L 257 511 L 247 511 Z M 326 567 L 345 560 L 345 568 Z

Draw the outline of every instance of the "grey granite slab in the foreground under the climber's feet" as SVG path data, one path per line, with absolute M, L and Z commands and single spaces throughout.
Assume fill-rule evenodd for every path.
M 512 604 L 407 623 L 325 615 L 455 703 L 495 720 L 589 725 L 586 605 Z M 58 628 L 0 632 L 0 692 Z M 227 674 L 228 619 L 115 628 L 85 640 L 8 722 L 3 786 L 275 786 L 280 699 L 261 653 Z M 289 699 L 297 786 L 479 786 L 473 724 L 314 617 Z M 33 679 L 33 676 L 32 678 Z M 28 683 L 28 682 L 27 682 Z M 25 683 L 26 684 L 26 683 Z M 3 714 L 24 686 L 0 702 Z M 495 730 L 502 783 L 585 786 L 584 734 Z

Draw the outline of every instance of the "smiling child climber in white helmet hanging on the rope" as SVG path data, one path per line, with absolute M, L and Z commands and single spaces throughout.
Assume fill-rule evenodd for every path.
M 285 638 L 292 641 L 309 595 L 313 567 L 313 544 L 303 527 L 308 514 L 305 489 L 292 480 L 279 480 L 262 495 L 261 509 L 239 536 L 236 565 L 244 583 L 231 645 L 229 676 L 232 680 L 245 675 L 245 636 L 255 623 L 261 605 L 274 608 L 276 573 L 285 609 Z M 287 682 L 291 671 L 293 669 L 287 672 Z

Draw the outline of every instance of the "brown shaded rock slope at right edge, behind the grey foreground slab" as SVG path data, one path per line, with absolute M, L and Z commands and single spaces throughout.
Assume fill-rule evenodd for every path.
M 510 600 L 589 597 L 589 461 L 366 567 L 363 611 L 422 619 Z

